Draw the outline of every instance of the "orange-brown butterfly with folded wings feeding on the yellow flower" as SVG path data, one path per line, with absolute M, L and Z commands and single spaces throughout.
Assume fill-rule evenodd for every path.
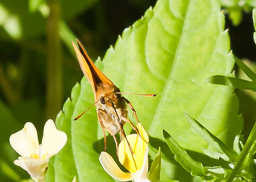
M 78 47 L 74 42 L 73 48 L 76 52 L 76 57 L 80 64 L 80 67 L 83 71 L 83 74 L 88 79 L 92 92 L 94 94 L 95 103 L 92 106 L 96 106 L 97 117 L 102 127 L 103 135 L 104 135 L 104 150 L 107 150 L 107 138 L 105 134 L 105 129 L 109 132 L 109 134 L 114 138 L 116 144 L 116 154 L 118 155 L 118 142 L 116 140 L 116 134 L 120 133 L 120 138 L 126 138 L 126 134 L 123 130 L 123 125 L 128 122 L 132 126 L 133 130 L 139 134 L 139 131 L 134 126 L 133 122 L 131 122 L 127 118 L 127 105 L 133 112 L 137 122 L 139 122 L 135 109 L 133 105 L 122 96 L 122 94 L 130 94 L 130 93 L 122 93 L 119 88 L 114 85 L 114 83 L 105 76 L 100 69 L 98 69 L 90 57 L 88 56 L 85 48 L 81 42 L 76 39 Z M 156 94 L 137 94 L 148 97 L 154 97 Z M 78 115 L 74 120 L 78 120 L 86 111 L 88 111 L 92 106 L 90 106 L 83 113 Z M 139 134 L 140 135 L 140 134 Z M 122 139 L 122 138 L 121 138 Z M 142 138 L 144 140 L 144 138 Z M 130 147 L 130 145 L 129 145 Z M 133 153 L 132 148 L 130 147 L 130 152 Z

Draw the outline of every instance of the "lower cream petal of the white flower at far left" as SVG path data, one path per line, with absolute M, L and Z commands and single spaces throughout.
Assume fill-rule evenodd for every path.
M 14 164 L 26 170 L 33 180 L 43 180 L 48 165 L 48 159 L 40 160 L 19 157 L 14 161 Z

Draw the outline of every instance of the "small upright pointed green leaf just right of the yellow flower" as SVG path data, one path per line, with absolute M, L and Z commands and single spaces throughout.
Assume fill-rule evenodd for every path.
M 159 147 L 156 157 L 151 164 L 149 171 L 149 181 L 159 182 L 160 181 L 160 171 L 161 171 L 161 147 Z

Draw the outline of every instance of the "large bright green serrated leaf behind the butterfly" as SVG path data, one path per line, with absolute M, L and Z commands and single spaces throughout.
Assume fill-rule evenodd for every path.
M 103 62 L 98 60 L 96 65 L 123 92 L 157 93 L 154 98 L 126 96 L 152 137 L 164 140 L 161 131 L 166 129 L 182 147 L 199 152 L 201 147 L 208 147 L 187 123 L 185 110 L 232 145 L 242 123 L 240 117 L 229 117 L 238 111 L 233 88 L 205 82 L 216 74 L 232 76 L 234 60 L 223 27 L 224 15 L 216 0 L 159 0 L 154 9 L 149 8 L 144 17 L 123 31 L 115 47 L 111 46 Z M 70 120 L 94 102 L 86 78 L 81 80 L 81 92 L 73 100 L 76 102 Z M 131 114 L 130 118 L 134 121 Z M 72 147 L 69 151 L 73 152 L 78 180 L 94 181 L 97 176 L 99 181 L 113 181 L 98 160 L 104 143 L 95 109 L 76 122 L 66 122 L 70 123 L 72 145 L 68 145 Z M 127 133 L 129 129 L 126 124 Z M 109 145 L 113 139 L 107 139 L 107 151 L 114 156 L 115 148 Z

